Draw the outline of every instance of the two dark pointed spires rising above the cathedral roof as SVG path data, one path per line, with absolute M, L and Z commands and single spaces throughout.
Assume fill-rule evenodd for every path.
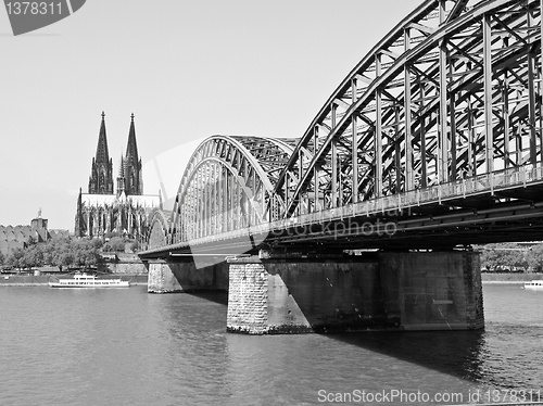
M 121 156 L 121 167 L 117 177 L 117 196 L 123 194 L 123 192 L 125 195 L 143 194 L 141 158 L 138 155 L 138 144 L 136 143 L 134 114 L 131 115 L 130 130 L 128 131 L 126 155 Z M 108 150 L 105 114 L 103 112 L 98 137 L 97 155 L 92 158 L 92 167 L 90 169 L 89 194 L 113 194 L 113 161 Z

